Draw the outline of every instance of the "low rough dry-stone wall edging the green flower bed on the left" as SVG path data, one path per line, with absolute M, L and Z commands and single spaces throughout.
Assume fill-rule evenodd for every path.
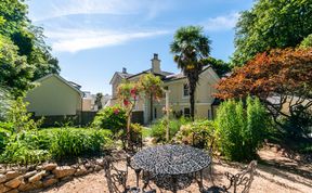
M 30 167 L 0 166 L 0 193 L 18 193 L 44 189 L 61 181 L 103 169 L 103 158 L 84 159 L 75 165 L 61 166 L 46 163 Z

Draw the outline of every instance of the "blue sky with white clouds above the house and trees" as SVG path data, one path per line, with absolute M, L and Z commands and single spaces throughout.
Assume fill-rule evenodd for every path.
M 109 80 L 127 67 L 139 73 L 158 53 L 164 70 L 178 73 L 169 44 L 174 31 L 202 25 L 211 56 L 229 61 L 234 26 L 252 0 L 29 0 L 29 17 L 44 28 L 61 75 L 93 93 L 110 93 Z

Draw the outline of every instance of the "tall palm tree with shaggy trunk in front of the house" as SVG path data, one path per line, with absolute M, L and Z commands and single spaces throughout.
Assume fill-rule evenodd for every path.
M 203 59 L 208 57 L 210 40 L 203 33 L 200 26 L 181 27 L 174 34 L 170 51 L 174 54 L 174 62 L 187 78 L 190 89 L 191 117 L 194 120 L 195 91 L 203 70 Z

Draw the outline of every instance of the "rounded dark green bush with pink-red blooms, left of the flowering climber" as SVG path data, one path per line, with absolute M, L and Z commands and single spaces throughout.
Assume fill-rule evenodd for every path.
M 96 114 L 92 127 L 98 129 L 109 129 L 113 133 L 117 133 L 126 128 L 126 111 L 120 106 L 108 106 Z

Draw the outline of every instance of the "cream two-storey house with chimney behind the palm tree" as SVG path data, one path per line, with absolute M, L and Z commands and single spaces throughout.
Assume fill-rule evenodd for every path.
M 138 81 L 141 76 L 152 73 L 155 76 L 159 76 L 161 78 L 165 89 L 169 91 L 169 104 L 172 111 L 172 115 L 176 117 L 190 116 L 190 95 L 186 77 L 182 73 L 172 74 L 161 70 L 158 54 L 154 54 L 154 57 L 151 61 L 151 68 L 139 74 L 129 74 L 125 68 L 121 73 L 117 72 L 114 74 L 110 80 L 113 93 L 110 105 L 118 104 L 117 88 L 120 82 L 123 80 Z M 219 76 L 210 66 L 206 66 L 200 73 L 198 86 L 195 92 L 196 118 L 212 119 L 216 115 L 216 110 L 213 108 L 214 98 L 212 94 L 217 92 L 214 85 L 218 83 L 219 80 Z M 144 124 L 161 118 L 165 115 L 165 98 L 162 98 L 160 101 L 153 101 L 153 110 L 151 110 L 151 101 L 147 98 L 142 97 L 136 103 L 134 114 L 135 112 L 141 112 L 143 115 Z

